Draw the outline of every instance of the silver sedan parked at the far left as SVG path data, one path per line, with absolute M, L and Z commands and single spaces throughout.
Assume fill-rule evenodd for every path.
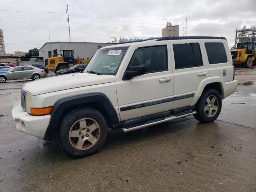
M 0 71 L 0 83 L 4 83 L 6 80 L 18 79 L 38 80 L 45 76 L 46 73 L 44 72 L 44 69 L 33 66 L 19 66 L 12 68 L 9 71 Z

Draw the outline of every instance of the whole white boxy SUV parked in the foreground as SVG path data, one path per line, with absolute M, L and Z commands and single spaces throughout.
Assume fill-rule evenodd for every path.
M 194 115 L 220 114 L 237 88 L 224 37 L 170 37 L 99 49 L 83 73 L 25 84 L 16 128 L 51 140 L 74 157 L 94 154 L 107 128 L 124 132 Z

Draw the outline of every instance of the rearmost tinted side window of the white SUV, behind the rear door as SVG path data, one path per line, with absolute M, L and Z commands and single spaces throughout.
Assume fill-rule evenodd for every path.
M 228 62 L 223 43 L 204 43 L 209 64 Z

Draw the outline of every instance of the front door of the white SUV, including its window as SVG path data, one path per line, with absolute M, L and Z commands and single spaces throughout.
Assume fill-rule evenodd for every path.
M 133 55 L 126 59 L 128 67 L 145 65 L 146 74 L 123 80 L 118 76 L 116 91 L 121 120 L 156 114 L 173 107 L 173 80 L 170 45 L 157 42 L 144 47 L 130 47 Z M 124 74 L 124 73 L 123 73 Z M 121 75 L 123 75 L 121 74 Z

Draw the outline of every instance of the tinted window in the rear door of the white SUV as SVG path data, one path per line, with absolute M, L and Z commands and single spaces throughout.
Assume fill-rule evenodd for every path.
M 203 66 L 202 54 L 198 43 L 174 44 L 175 69 Z

